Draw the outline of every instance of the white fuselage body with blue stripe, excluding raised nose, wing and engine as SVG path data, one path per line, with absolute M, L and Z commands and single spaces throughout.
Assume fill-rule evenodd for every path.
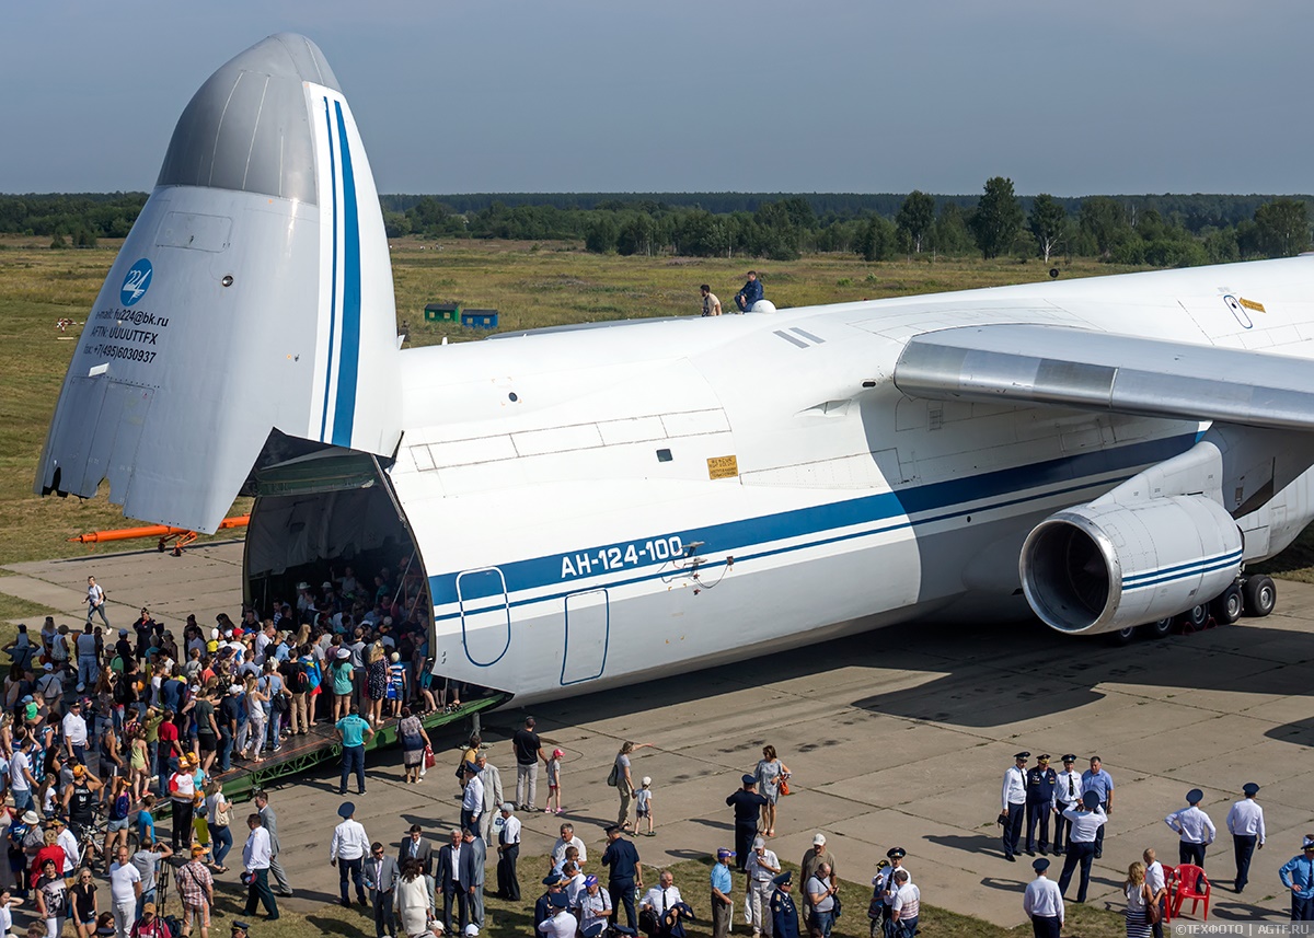
M 1028 322 L 1307 357 L 1310 275 L 1297 259 L 406 351 L 390 480 L 435 671 L 532 700 L 964 596 L 1022 612 L 1031 527 L 1202 424 L 912 399 L 890 380 L 904 340 Z M 1234 294 L 1267 311 L 1247 326 Z M 1272 552 L 1309 520 L 1306 483 Z

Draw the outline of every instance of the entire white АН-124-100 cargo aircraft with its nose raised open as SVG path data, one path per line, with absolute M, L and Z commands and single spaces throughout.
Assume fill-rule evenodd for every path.
M 1311 285 L 1294 257 L 402 348 L 351 108 L 279 34 L 179 120 L 35 489 L 198 531 L 255 495 L 254 599 L 402 557 L 435 674 L 518 703 L 926 616 L 1162 633 L 1268 614 L 1246 568 L 1314 516 Z

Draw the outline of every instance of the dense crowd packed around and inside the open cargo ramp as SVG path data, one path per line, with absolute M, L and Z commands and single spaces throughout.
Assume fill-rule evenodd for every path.
M 54 617 L 38 632 L 20 625 L 3 649 L 11 663 L 0 688 L 9 860 L 0 925 L 30 901 L 43 934 L 71 924 L 79 938 L 97 929 L 154 938 L 172 871 L 184 927 L 208 938 L 215 876 L 238 875 L 226 864 L 234 805 L 218 776 L 317 726 L 360 757 L 361 791 L 364 746 L 352 744 L 384 721 L 397 720 L 403 742 L 418 740 L 423 753 L 423 726 L 407 730 L 426 711 L 459 707 L 465 688 L 435 683 L 424 586 L 405 562 L 398 569 L 367 582 L 348 566 L 318 590 L 301 582 L 288 602 L 243 610 L 240 621 L 219 614 L 202 628 L 188 616 L 177 636 L 146 608 L 114 629 L 105 589 L 88 577 L 80 631 Z M 268 796 L 255 800 L 240 876 L 248 913 L 263 904 L 277 918 L 276 895 L 292 891 Z M 156 830 L 166 815 L 167 836 Z

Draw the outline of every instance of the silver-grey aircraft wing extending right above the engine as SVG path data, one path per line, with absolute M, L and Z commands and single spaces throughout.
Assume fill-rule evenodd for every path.
M 909 397 L 1314 430 L 1314 361 L 1066 326 L 924 332 L 894 381 Z

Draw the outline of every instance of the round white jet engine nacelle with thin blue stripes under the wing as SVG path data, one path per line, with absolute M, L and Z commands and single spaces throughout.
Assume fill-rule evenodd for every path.
M 1240 573 L 1236 522 L 1205 495 L 1081 504 L 1041 522 L 1022 545 L 1022 591 L 1068 635 L 1116 632 L 1185 612 Z

